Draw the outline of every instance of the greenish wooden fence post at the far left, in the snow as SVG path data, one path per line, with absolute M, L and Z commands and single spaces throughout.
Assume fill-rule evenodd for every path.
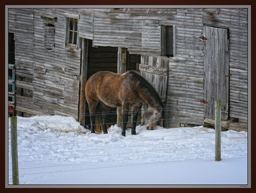
M 11 117 L 12 184 L 19 184 L 17 117 Z

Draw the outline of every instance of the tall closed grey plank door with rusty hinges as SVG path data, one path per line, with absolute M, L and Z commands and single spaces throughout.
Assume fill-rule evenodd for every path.
M 228 30 L 204 26 L 204 117 L 215 119 L 214 102 L 221 101 L 221 118 L 228 119 Z

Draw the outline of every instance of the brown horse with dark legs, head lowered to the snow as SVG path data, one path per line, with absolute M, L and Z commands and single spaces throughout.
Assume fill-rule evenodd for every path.
M 156 127 L 159 120 L 163 119 L 163 103 L 156 90 L 140 74 L 128 71 L 117 74 L 108 71 L 94 73 L 86 82 L 85 96 L 88 103 L 91 133 L 95 133 L 95 115 L 101 106 L 101 121 L 104 134 L 108 133 L 106 112 L 110 107 L 122 107 L 123 128 L 122 135 L 128 122 L 128 112 L 132 113 L 132 135 L 136 135 L 136 122 L 138 113 L 144 103 L 144 118 L 147 130 Z

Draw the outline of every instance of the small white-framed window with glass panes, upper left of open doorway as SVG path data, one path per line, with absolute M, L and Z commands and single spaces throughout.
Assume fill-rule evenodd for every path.
M 67 27 L 67 46 L 77 47 L 77 23 L 78 19 L 68 18 L 68 27 Z

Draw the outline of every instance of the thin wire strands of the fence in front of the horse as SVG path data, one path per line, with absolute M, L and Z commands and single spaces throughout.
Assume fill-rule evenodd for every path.
M 197 107 L 198 108 L 198 107 Z M 202 108 L 214 108 L 214 107 L 202 107 Z M 162 111 L 175 111 L 175 110 L 180 110 L 181 108 L 164 108 Z M 194 108 L 186 108 L 185 110 L 194 110 Z M 184 109 L 183 109 L 184 110 Z M 141 112 L 141 111 L 140 111 Z M 106 115 L 110 114 L 116 114 L 115 112 L 103 112 Z M 125 112 L 122 112 L 125 113 Z M 239 113 L 237 113 L 239 114 Z M 102 115 L 101 113 L 98 113 L 97 115 Z M 229 114 L 230 115 L 230 114 Z M 80 114 L 80 116 L 89 116 L 88 113 L 84 113 L 84 115 Z M 60 117 L 45 117 L 45 118 L 28 118 L 28 119 L 22 119 L 22 120 L 44 120 L 44 119 L 56 119 L 56 118 L 63 118 L 63 116 Z M 180 119 L 180 118 L 169 118 L 169 119 L 163 119 L 163 120 L 175 120 L 175 119 Z M 22 121 L 19 120 L 19 121 Z M 162 119 L 161 119 L 162 120 Z M 133 121 L 129 121 L 133 122 Z M 234 123 L 246 123 L 246 122 L 234 122 Z M 116 124 L 116 123 L 108 123 L 108 124 Z M 100 125 L 100 124 L 94 124 L 94 125 Z M 211 125 L 211 124 L 209 124 Z M 65 126 L 65 127 L 79 127 L 80 125 L 75 125 L 75 126 Z M 83 126 L 91 126 L 91 125 L 83 125 Z M 199 126 L 199 125 L 189 125 L 191 126 Z M 44 130 L 44 129 L 54 129 L 54 128 L 61 128 L 61 127 L 45 127 L 45 128 L 36 128 L 36 129 L 19 129 L 18 131 L 26 131 L 26 130 Z M 176 128 L 176 127 L 165 127 L 165 128 Z M 145 130 L 144 129 L 136 129 L 138 130 Z M 204 133 L 188 133 L 188 134 L 177 134 L 177 135 L 162 135 L 162 136 L 150 136 L 150 137 L 138 137 L 138 138 L 123 138 L 123 139 L 113 139 L 113 140 L 99 140 L 99 141 L 86 141 L 86 142 L 76 142 L 76 143 L 56 143 L 56 144 L 46 144 L 46 145 L 31 145 L 31 146 L 23 146 L 23 147 L 18 147 L 20 148 L 31 148 L 31 147 L 40 147 L 40 146 L 53 146 L 53 145 L 66 145 L 66 144 L 80 144 L 80 143 L 97 143 L 97 142 L 110 142 L 110 141 L 120 141 L 120 140 L 134 140 L 134 139 L 147 139 L 147 138 L 157 138 L 157 137 L 168 137 L 168 136 L 181 136 L 181 135 L 202 135 L 202 134 L 212 134 L 215 132 L 204 132 Z M 236 133 L 236 132 L 229 132 L 229 133 Z M 79 133 L 74 134 L 74 135 L 80 135 Z M 26 140 L 26 139 L 35 139 L 35 138 L 48 138 L 48 137 L 60 137 L 60 136 L 74 136 L 74 135 L 57 135 L 57 136 L 44 136 L 44 137 L 28 137 L 28 138 L 20 138 L 18 140 Z M 226 138 L 221 138 L 221 140 L 227 140 L 227 139 L 235 139 L 235 138 L 247 138 L 245 137 L 226 137 Z M 167 139 L 168 140 L 168 139 Z M 171 140 L 171 139 L 170 139 Z M 78 150 L 78 151 L 63 151 L 63 152 L 53 152 L 53 153 L 40 153 L 40 154 L 29 154 L 29 155 L 18 155 L 18 157 L 23 157 L 23 156 L 35 156 L 35 155 L 51 155 L 51 154 L 65 154 L 65 153 L 70 153 L 70 152 L 81 152 L 81 151 L 101 151 L 101 150 L 109 150 L 109 149 L 118 149 L 118 148 L 134 148 L 134 147 L 141 147 L 141 146 L 155 146 L 155 145 L 165 145 L 165 144 L 178 144 L 178 143 L 195 143 L 195 142 L 200 142 L 200 141 L 212 141 L 211 143 L 214 143 L 215 139 L 205 139 L 205 140 L 194 140 L 194 141 L 182 141 L 182 142 L 170 142 L 170 143 L 157 143 L 157 144 L 143 144 L 143 145 L 133 145 L 133 146 L 126 146 L 126 147 L 111 147 L 111 148 L 101 148 L 101 149 L 87 149 L 87 150 Z M 221 146 L 229 146 L 229 145 L 235 145 L 235 146 L 240 146 L 242 144 L 247 144 L 247 143 L 227 143 L 221 144 Z M 207 147 L 213 147 L 213 145 L 205 145 L 205 146 L 193 146 L 193 147 L 184 147 L 184 148 L 172 148 L 172 149 L 158 149 L 158 150 L 145 150 L 145 151 L 136 151 L 136 152 L 124 152 L 124 153 L 108 153 L 108 154 L 102 154 L 102 155 L 91 155 L 91 156 L 79 156 L 79 157 L 64 157 L 64 158 L 50 158 L 50 159 L 41 159 L 41 160 L 27 160 L 27 161 L 21 161 L 19 163 L 27 163 L 27 162 L 41 162 L 41 161 L 50 161 L 50 160 L 60 160 L 60 159 L 71 159 L 71 158 L 92 158 L 92 157 L 98 157 L 98 156 L 112 156 L 112 155 L 122 155 L 122 154 L 139 154 L 139 153 L 145 153 L 145 152 L 156 152 L 156 151 L 174 151 L 174 150 L 185 150 L 185 149 L 191 149 L 191 148 L 207 148 Z M 161 147 L 160 147 L 161 148 Z M 10 147 L 9 147 L 10 149 Z M 53 150 L 54 151 L 54 150 Z M 247 151 L 247 149 L 236 149 L 236 150 L 224 150 L 221 152 L 230 152 L 230 151 Z M 175 157 L 175 156 L 187 156 L 187 155 L 195 155 L 195 154 L 206 154 L 206 153 L 214 153 L 214 151 L 206 151 L 206 152 L 195 152 L 195 153 L 189 153 L 189 154 L 179 154 L 179 155 L 164 155 L 164 156 L 153 156 L 153 157 L 144 157 L 144 158 L 130 158 L 130 159 L 118 159 L 118 160 L 108 160 L 108 161 L 98 161 L 98 162 L 85 162 L 85 163 L 76 163 L 76 164 L 64 164 L 64 165 L 54 165 L 54 166 L 39 166 L 39 167 L 28 167 L 28 168 L 20 168 L 20 170 L 25 170 L 25 169 L 36 169 L 36 168 L 47 168 L 47 167 L 57 167 L 57 166 L 76 166 L 76 165 L 85 165 L 85 164 L 90 164 L 90 163 L 105 163 L 105 162 L 120 162 L 120 161 L 127 161 L 127 160 L 137 160 L 137 159 L 149 159 L 149 158 L 164 158 L 164 157 Z M 225 157 L 241 157 L 241 156 L 247 156 L 247 153 L 245 152 L 243 155 L 236 155 L 236 156 L 222 156 L 222 158 Z M 11 156 L 9 156 L 11 158 Z M 67 172 L 67 171 L 79 171 L 79 170 L 90 170 L 90 169 L 100 169 L 100 168 L 112 168 L 112 167 L 124 167 L 124 166 L 136 166 L 136 165 L 146 165 L 146 164 L 157 164 L 157 163 L 167 163 L 167 162 L 174 162 L 174 161 L 186 161 L 186 160 L 199 160 L 199 159 L 208 159 L 208 158 L 214 158 L 214 157 L 206 157 L 206 158 L 195 158 L 195 159 L 181 159 L 181 160 L 170 160 L 170 161 L 161 161 L 161 162 L 152 162 L 152 163 L 143 163 L 143 164 L 131 164 L 131 165 L 122 165 L 122 166 L 105 166 L 105 167 L 95 167 L 95 168 L 85 168 L 85 169 L 75 169 L 75 170 L 62 170 L 62 171 L 51 171 L 51 172 L 41 172 L 41 173 L 31 173 L 31 174 L 20 174 L 20 175 L 32 175 L 32 174 L 46 174 L 46 173 L 57 173 L 57 172 Z M 9 162 L 11 164 L 11 162 Z M 12 169 L 9 169 L 10 171 Z M 9 179 L 10 180 L 10 179 Z M 9 181 L 10 182 L 10 181 Z

